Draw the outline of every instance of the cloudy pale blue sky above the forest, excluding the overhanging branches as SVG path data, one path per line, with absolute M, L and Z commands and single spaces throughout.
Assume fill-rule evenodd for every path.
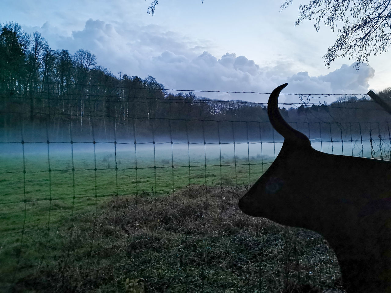
M 15 21 L 28 33 L 40 32 L 54 50 L 90 50 L 114 75 L 152 75 L 166 89 L 270 93 L 288 82 L 283 93 L 366 94 L 391 86 L 390 52 L 371 56 L 358 71 L 347 57 L 327 68 L 322 57 L 337 33 L 324 26 L 316 32 L 313 21 L 295 27 L 298 5 L 309 0 L 281 11 L 283 2 L 160 0 L 152 16 L 146 13 L 151 0 L 2 0 L 0 23 Z M 321 96 L 319 102 L 335 99 Z M 300 100 L 285 95 L 280 102 Z

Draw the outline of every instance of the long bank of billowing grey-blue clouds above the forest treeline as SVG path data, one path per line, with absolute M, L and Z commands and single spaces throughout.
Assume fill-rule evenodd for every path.
M 293 63 L 286 61 L 262 66 L 234 53 L 226 53 L 219 58 L 208 52 L 212 45 L 207 41 L 191 40 L 157 25 L 106 23 L 89 19 L 82 30 L 73 31 L 68 36 L 50 23 L 45 23 L 38 30 L 54 49 L 68 49 L 71 53 L 79 48 L 90 50 L 97 56 L 98 64 L 114 74 L 122 71 L 129 76 L 152 75 L 167 89 L 271 92 L 276 86 L 288 82 L 285 93 L 366 93 L 368 81 L 375 72 L 366 64 L 362 64 L 359 71 L 353 68 L 353 64 L 344 64 L 327 75 L 311 76 L 307 71 L 294 72 Z M 267 95 L 202 95 L 267 101 Z M 332 102 L 335 96 L 324 99 Z M 299 100 L 297 96 L 282 95 L 281 102 Z

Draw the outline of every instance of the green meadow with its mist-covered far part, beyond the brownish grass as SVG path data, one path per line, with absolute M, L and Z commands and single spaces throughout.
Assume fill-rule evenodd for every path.
M 24 151 L 0 157 L 6 221 L 0 233 L 47 228 L 111 196 L 163 195 L 193 184 L 248 185 L 274 159 L 234 156 L 232 144 L 117 144 L 117 151 L 106 143 L 53 145 L 48 151 L 46 143 L 25 144 Z

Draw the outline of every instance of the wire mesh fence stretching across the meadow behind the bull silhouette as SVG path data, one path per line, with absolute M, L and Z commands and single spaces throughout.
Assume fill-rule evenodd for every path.
M 264 104 L 98 86 L 2 100 L 5 290 L 341 288 L 319 234 L 237 209 L 282 147 Z M 286 105 L 283 117 L 317 150 L 391 159 L 376 104 Z

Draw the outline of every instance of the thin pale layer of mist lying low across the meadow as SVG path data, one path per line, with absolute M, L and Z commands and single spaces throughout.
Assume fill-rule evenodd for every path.
M 390 141 L 320 141 L 311 139 L 316 150 L 338 155 L 390 159 Z M 219 166 L 271 163 L 282 142 L 249 143 L 2 143 L 0 160 L 3 172 L 50 170 L 131 169 L 181 166 Z M 10 164 L 10 159 L 13 162 Z M 298 158 L 300 160 L 300 158 Z

